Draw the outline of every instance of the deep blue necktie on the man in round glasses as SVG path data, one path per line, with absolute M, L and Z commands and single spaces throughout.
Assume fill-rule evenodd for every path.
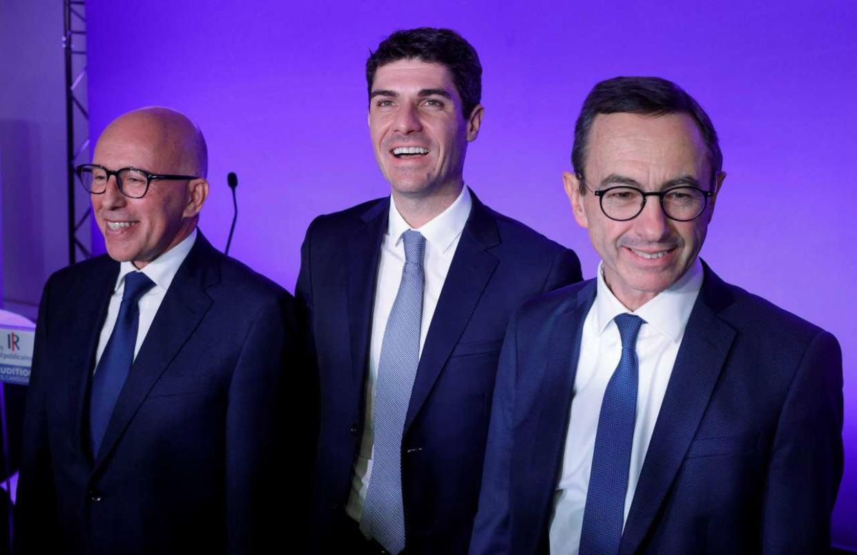
M 614 555 L 619 552 L 634 422 L 637 419 L 638 363 L 635 346 L 643 319 L 633 314 L 614 318 L 622 338 L 619 366 L 604 391 L 584 523 L 580 531 L 580 555 Z

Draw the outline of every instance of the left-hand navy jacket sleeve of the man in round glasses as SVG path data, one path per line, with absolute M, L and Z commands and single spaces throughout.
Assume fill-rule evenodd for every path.
M 482 469 L 482 490 L 470 555 L 508 553 L 509 545 L 509 486 L 512 462 L 512 423 L 515 411 L 515 381 L 518 372 L 518 313 L 512 315 L 506 330 L 500 365 L 494 385 L 488 444 Z

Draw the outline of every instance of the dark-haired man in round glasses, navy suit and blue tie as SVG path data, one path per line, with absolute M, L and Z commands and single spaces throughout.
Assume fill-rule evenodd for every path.
M 826 552 L 842 354 L 698 260 L 709 117 L 669 81 L 602 81 L 572 163 L 602 263 L 512 317 L 471 552 Z

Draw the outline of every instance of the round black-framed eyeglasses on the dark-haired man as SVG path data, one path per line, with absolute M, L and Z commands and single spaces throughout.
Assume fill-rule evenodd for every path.
M 578 176 L 578 179 L 581 179 L 581 176 Z M 618 185 L 592 191 L 592 194 L 598 197 L 604 215 L 617 222 L 637 218 L 640 212 L 643 212 L 646 198 L 650 196 L 657 197 L 667 218 L 677 222 L 690 222 L 705 212 L 708 200 L 714 193 L 690 185 L 648 193 L 636 187 Z

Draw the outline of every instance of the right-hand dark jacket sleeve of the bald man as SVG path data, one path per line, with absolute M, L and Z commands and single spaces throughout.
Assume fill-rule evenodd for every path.
M 278 545 L 287 522 L 285 508 L 300 507 L 286 480 L 297 474 L 305 449 L 294 426 L 291 380 L 303 368 L 298 358 L 294 303 L 285 291 L 256 313 L 232 373 L 226 409 L 226 517 L 229 553 L 266 553 Z M 290 403 L 291 402 L 291 403 Z M 286 530 L 294 533 L 294 530 Z

